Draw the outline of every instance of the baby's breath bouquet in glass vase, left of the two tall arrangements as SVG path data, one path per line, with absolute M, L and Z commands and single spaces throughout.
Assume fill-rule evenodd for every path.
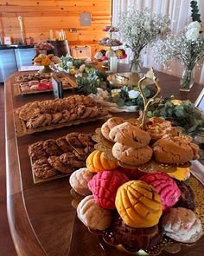
M 140 52 L 143 48 L 162 38 L 169 30 L 169 16 L 151 14 L 149 9 L 135 10 L 118 17 L 118 35 L 133 52 L 131 71 L 138 67 Z

